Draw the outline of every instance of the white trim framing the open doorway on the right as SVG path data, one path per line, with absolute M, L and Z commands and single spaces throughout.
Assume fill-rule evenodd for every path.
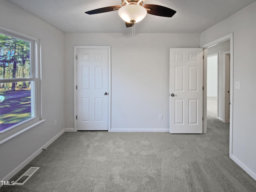
M 204 44 L 201 48 L 204 48 L 205 54 L 207 54 L 207 48 L 212 47 L 220 42 L 226 41 L 230 39 L 230 125 L 229 125 L 229 156 L 231 157 L 233 154 L 233 90 L 234 90 L 234 83 L 233 83 L 233 70 L 234 70 L 234 48 L 233 48 L 233 33 L 230 33 L 224 37 L 218 38 L 212 42 Z M 204 60 L 204 117 L 207 117 L 207 60 Z M 204 133 L 207 132 L 207 118 L 204 118 Z

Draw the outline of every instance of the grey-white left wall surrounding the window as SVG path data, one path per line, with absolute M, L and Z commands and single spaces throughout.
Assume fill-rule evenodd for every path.
M 6 0 L 0 0 L 0 18 L 0 26 L 41 41 L 42 115 L 46 119 L 40 126 L 0 146 L 0 179 L 2 180 L 63 130 L 65 102 L 64 34 Z M 58 120 L 56 127 L 54 127 L 54 119 Z

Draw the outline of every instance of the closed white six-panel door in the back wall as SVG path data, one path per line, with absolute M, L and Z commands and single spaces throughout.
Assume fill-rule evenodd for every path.
M 77 49 L 77 130 L 108 130 L 108 48 Z

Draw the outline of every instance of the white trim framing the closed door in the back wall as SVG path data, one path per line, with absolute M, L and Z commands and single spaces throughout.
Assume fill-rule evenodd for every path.
M 74 46 L 74 131 L 77 131 L 77 49 L 108 49 L 108 131 L 111 130 L 111 47 L 110 46 Z

